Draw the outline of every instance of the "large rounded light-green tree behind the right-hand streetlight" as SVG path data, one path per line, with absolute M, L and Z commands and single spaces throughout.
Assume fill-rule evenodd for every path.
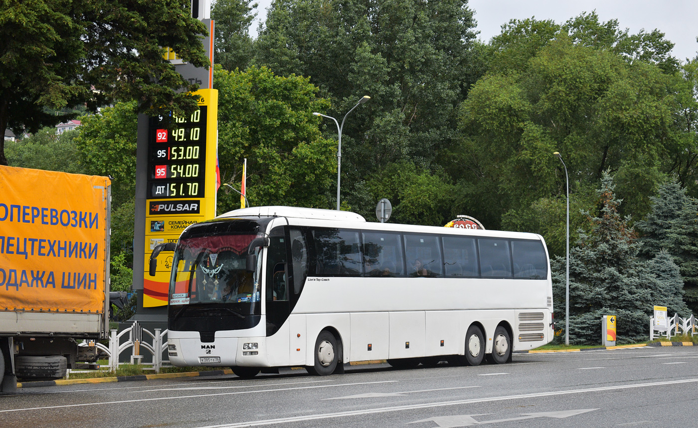
M 573 200 L 590 202 L 584 195 L 610 170 L 621 209 L 642 218 L 675 147 L 671 43 L 658 31 L 628 34 L 592 13 L 564 25 L 512 20 L 491 45 L 489 71 L 461 104 L 459 145 L 443 163 L 459 183 L 459 210 L 492 228 L 502 226 L 502 213 L 530 218 L 536 201 L 565 193 L 562 165 L 552 156 L 560 152 Z M 517 230 L 560 229 L 558 221 L 516 223 L 507 220 Z

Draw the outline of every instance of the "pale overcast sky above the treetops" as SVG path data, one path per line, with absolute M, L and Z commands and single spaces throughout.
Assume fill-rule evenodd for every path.
M 258 20 L 264 20 L 272 0 L 257 0 Z M 659 29 L 675 43 L 675 57 L 681 61 L 694 58 L 698 50 L 698 1 L 697 0 L 470 0 L 475 10 L 477 30 L 484 41 L 496 36 L 500 27 L 512 18 L 535 16 L 537 20 L 554 20 L 562 24 L 582 12 L 596 10 L 602 22 L 617 19 L 621 28 L 634 34 L 645 29 Z M 257 23 L 251 28 L 251 36 L 257 36 Z

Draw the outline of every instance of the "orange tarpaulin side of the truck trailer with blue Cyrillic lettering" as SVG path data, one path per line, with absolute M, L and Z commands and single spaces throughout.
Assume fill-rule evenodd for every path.
M 0 310 L 103 313 L 110 185 L 0 166 Z

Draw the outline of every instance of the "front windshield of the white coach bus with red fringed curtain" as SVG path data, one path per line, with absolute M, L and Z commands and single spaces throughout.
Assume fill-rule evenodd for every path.
M 186 237 L 174 253 L 170 279 L 170 306 L 189 304 L 230 304 L 242 314 L 255 312 L 260 301 L 259 256 L 257 272 L 247 272 L 249 244 L 257 233 L 232 233 Z

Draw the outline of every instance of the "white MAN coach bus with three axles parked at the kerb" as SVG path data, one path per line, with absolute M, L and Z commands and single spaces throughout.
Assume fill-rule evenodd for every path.
M 532 233 L 369 223 L 351 212 L 237 209 L 175 244 L 168 353 L 176 366 L 395 367 L 511 360 L 553 339 L 544 240 Z M 272 369 L 269 369 L 272 368 Z

